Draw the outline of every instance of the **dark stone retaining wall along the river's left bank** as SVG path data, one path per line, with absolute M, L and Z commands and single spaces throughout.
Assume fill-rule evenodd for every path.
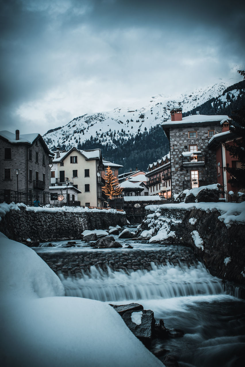
M 85 229 L 108 229 L 126 225 L 125 214 L 10 210 L 0 222 L 0 232 L 15 241 L 78 237 Z

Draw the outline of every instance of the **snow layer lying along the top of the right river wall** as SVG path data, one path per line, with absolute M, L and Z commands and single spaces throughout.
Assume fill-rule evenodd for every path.
M 232 224 L 245 224 L 245 201 L 242 203 L 179 203 L 147 205 L 146 210 L 155 212 L 161 209 L 193 210 L 199 209 L 207 213 L 218 211 L 218 219 L 229 228 Z

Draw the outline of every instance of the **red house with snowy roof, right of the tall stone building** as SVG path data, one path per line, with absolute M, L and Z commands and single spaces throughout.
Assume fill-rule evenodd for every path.
M 228 201 L 232 200 L 229 193 L 238 192 L 242 187 L 233 186 L 228 182 L 231 175 L 224 170 L 224 167 L 241 168 L 241 162 L 237 158 L 232 157 L 230 152 L 224 147 L 224 143 L 234 145 L 234 138 L 239 139 L 235 132 L 230 132 L 229 121 L 224 119 L 221 121 L 222 132 L 215 134 L 209 141 L 208 147 L 216 153 L 216 181 L 224 188 L 224 196 Z

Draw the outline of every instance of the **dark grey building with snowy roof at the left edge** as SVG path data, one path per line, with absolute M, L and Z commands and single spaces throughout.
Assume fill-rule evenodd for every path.
M 49 158 L 40 134 L 0 131 L 0 200 L 49 203 Z

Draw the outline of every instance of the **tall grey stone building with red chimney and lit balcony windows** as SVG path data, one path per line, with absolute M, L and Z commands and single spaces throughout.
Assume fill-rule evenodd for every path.
M 171 121 L 161 124 L 170 142 L 171 192 L 217 183 L 216 154 L 208 147 L 214 134 L 221 132 L 221 121 L 228 116 L 193 115 L 182 118 L 175 106 Z

